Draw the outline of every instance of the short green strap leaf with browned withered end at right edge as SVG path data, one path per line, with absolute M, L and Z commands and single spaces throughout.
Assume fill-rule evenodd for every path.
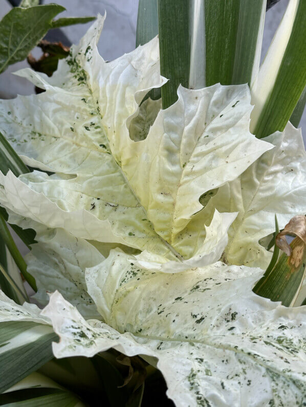
M 292 254 L 282 253 L 270 274 L 264 275 L 255 285 L 254 293 L 272 301 L 292 306 L 301 287 L 306 265 L 304 243 L 296 237 L 290 244 Z

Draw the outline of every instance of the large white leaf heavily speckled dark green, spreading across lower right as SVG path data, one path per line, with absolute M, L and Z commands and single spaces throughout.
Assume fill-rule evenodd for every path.
M 86 322 L 59 293 L 51 295 L 42 314 L 61 338 L 53 345 L 57 357 L 110 347 L 156 357 L 178 406 L 300 405 L 304 307 L 286 308 L 252 293 L 259 269 L 217 262 L 167 274 L 136 261 L 114 250 L 88 270 L 89 293 L 111 327 Z

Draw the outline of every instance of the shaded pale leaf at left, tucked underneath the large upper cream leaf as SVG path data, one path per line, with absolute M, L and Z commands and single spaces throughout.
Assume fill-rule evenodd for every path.
M 84 239 L 63 229 L 37 234 L 37 244 L 26 256 L 27 271 L 35 278 L 38 292 L 34 298 L 46 305 L 47 292 L 60 293 L 86 318 L 98 318 L 92 298 L 86 291 L 85 269 L 99 264 L 103 255 Z

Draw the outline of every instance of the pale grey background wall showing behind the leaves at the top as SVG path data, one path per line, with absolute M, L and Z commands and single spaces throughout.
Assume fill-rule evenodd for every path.
M 268 50 L 288 1 L 280 0 L 266 14 L 262 56 Z M 57 3 L 65 7 L 67 11 L 60 16 L 97 15 L 97 13 L 103 14 L 106 11 L 107 18 L 98 46 L 101 55 L 106 60 L 113 60 L 135 48 L 138 0 L 45 0 L 43 3 Z M 11 6 L 7 0 L 0 0 L 0 5 L 0 18 L 2 18 Z M 77 43 L 89 26 L 90 23 L 66 27 L 62 30 L 72 43 Z M 39 55 L 37 51 L 36 54 Z M 33 86 L 25 79 L 11 75 L 15 70 L 25 66 L 27 66 L 26 62 L 14 64 L 0 75 L 0 97 L 13 98 L 17 93 L 30 94 L 33 92 Z M 300 126 L 305 129 L 303 136 L 306 142 L 306 112 L 303 114 Z

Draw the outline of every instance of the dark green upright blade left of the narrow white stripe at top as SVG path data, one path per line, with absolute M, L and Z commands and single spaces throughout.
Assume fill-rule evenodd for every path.
M 188 87 L 189 44 L 188 0 L 158 0 L 161 75 L 169 81 L 161 88 L 163 109 L 177 101 L 177 89 Z

